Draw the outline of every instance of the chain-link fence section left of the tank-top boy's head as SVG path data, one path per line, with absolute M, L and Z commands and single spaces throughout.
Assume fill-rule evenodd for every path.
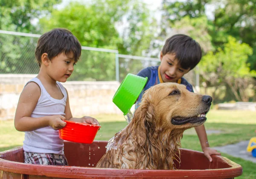
M 39 72 L 35 61 L 38 38 L 0 34 L 0 74 Z

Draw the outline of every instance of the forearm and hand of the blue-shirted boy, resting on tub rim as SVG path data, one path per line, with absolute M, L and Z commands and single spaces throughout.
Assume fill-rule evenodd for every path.
M 202 150 L 204 152 L 204 155 L 209 159 L 210 162 L 212 162 L 211 155 L 221 155 L 221 153 L 218 153 L 217 150 L 214 150 L 209 147 L 207 134 L 204 125 L 195 127 L 195 131 L 198 135 L 198 138 L 201 143 Z

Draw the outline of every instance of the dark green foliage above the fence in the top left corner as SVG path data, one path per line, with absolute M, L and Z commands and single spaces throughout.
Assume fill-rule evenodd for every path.
M 0 29 L 17 32 L 38 32 L 31 21 L 52 12 L 61 0 L 0 0 Z

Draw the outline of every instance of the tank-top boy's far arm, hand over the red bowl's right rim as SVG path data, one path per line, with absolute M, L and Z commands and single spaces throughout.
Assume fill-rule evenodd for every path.
M 66 90 L 66 92 L 67 92 L 67 90 Z M 87 123 L 87 124 L 93 124 L 93 125 L 99 125 L 99 122 L 95 118 L 92 118 L 90 116 L 84 116 L 82 118 L 74 118 L 72 116 L 72 113 L 71 113 L 71 110 L 70 110 L 68 93 L 67 93 L 67 102 L 66 102 L 66 107 L 65 107 L 65 112 L 64 113 L 65 113 L 66 120 L 76 121 L 76 122 L 81 122 L 81 123 Z

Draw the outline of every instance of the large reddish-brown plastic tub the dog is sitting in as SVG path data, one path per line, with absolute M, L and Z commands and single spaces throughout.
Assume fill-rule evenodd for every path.
M 0 153 L 0 179 L 232 179 L 241 176 L 242 167 L 222 156 L 210 163 L 203 153 L 181 150 L 178 170 L 132 170 L 95 168 L 106 151 L 107 141 L 79 144 L 64 141 L 64 152 L 70 166 L 24 164 L 22 147 Z

